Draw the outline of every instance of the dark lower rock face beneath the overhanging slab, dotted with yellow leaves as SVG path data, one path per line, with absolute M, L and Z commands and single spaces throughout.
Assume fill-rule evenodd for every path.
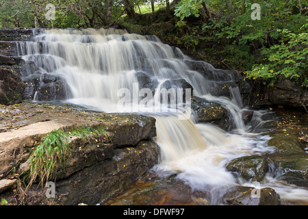
M 106 147 L 100 151 L 105 154 L 103 161 L 84 166 L 68 179 L 55 182 L 55 198 L 47 198 L 45 188 L 36 189 L 37 185 L 33 185 L 27 191 L 28 205 L 96 205 L 128 188 L 157 164 L 158 147 L 151 142 L 113 151 Z

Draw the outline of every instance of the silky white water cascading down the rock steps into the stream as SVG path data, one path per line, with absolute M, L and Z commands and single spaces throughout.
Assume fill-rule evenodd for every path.
M 154 169 L 179 172 L 177 177 L 195 190 L 212 191 L 238 183 L 231 172 L 225 170 L 227 162 L 242 155 L 273 150 L 266 146 L 267 136 L 249 133 L 251 130 L 244 124 L 238 87 L 230 87 L 231 98 L 211 93 L 211 88 L 220 81 L 234 81 L 234 75 L 205 62 L 198 64 L 207 75 L 192 70 L 189 57 L 155 36 L 128 34 L 118 29 L 51 29 L 41 30 L 31 42 L 19 42 L 18 47 L 30 66 L 23 77 L 38 80 L 34 81 L 34 90 L 29 90 L 34 101 L 45 101 L 45 92 L 51 92 L 55 100 L 103 112 L 154 116 L 157 120 L 155 140 L 160 147 L 159 164 Z M 181 90 L 190 86 L 193 93 Z M 142 88 L 147 89 L 148 105 L 140 104 L 140 98 L 144 97 L 144 93 L 140 94 Z M 174 88 L 177 91 L 175 105 L 162 103 L 157 88 Z M 149 91 L 155 93 L 149 96 Z M 194 123 L 193 116 L 183 114 L 189 112 L 189 105 L 183 103 L 190 99 L 190 94 L 225 107 L 233 119 L 232 133 L 209 123 Z M 267 181 L 270 183 L 264 185 L 277 189 L 274 179 Z M 288 190 L 290 187 L 278 188 L 281 194 L 287 194 Z M 300 192 L 300 198 L 308 201 L 307 190 Z M 211 202 L 220 203 L 217 198 L 211 198 Z

